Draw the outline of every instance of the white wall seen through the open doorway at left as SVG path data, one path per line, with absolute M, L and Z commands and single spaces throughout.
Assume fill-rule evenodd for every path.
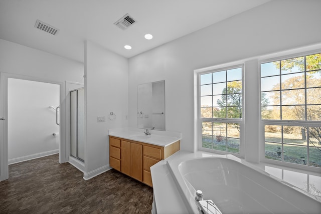
M 8 80 L 9 163 L 58 153 L 56 112 L 59 85 L 29 80 Z

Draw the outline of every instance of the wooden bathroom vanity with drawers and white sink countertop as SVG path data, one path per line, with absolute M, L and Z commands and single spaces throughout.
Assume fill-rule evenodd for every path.
M 179 151 L 180 139 L 180 133 L 109 130 L 109 165 L 152 187 L 150 166 Z

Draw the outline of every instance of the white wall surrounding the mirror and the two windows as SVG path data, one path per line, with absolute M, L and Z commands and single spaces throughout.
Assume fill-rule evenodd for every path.
M 182 132 L 181 149 L 194 151 L 195 69 L 220 65 L 282 50 L 321 43 L 321 1 L 271 1 L 183 38 L 129 59 L 129 126 L 137 124 L 137 85 L 166 81 L 166 130 Z M 258 61 L 245 65 L 245 100 L 255 109 L 254 123 L 246 123 L 258 133 Z M 250 87 L 247 84 L 255 84 Z M 248 113 L 246 111 L 245 113 Z M 259 136 L 250 137 L 246 153 L 258 160 Z M 254 153 L 253 153 L 254 150 Z M 253 156 L 251 156 L 253 155 Z

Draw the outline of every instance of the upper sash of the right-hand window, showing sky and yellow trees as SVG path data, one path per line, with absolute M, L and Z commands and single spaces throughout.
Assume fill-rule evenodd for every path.
M 320 56 L 314 54 L 261 64 L 263 120 L 321 120 L 321 96 L 316 96 L 321 92 Z M 273 107 L 278 105 L 281 108 Z

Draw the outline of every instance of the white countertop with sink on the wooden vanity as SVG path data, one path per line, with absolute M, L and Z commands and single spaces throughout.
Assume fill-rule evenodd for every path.
M 117 128 L 109 129 L 108 135 L 162 147 L 169 146 L 182 139 L 179 132 L 149 130 L 150 135 L 145 135 L 144 131 L 144 129 L 138 128 Z

